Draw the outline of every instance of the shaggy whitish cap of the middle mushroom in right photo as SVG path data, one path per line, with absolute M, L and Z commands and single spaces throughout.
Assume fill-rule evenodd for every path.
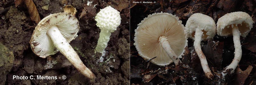
M 216 34 L 216 24 L 212 17 L 202 13 L 195 13 L 189 17 L 185 25 L 185 33 L 187 38 L 195 39 L 196 29 L 203 31 L 202 40 L 212 39 Z

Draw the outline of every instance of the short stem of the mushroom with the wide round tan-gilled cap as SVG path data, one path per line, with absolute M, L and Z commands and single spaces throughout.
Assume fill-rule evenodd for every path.
M 181 60 L 177 57 L 177 55 L 174 53 L 173 49 L 171 48 L 168 40 L 166 39 L 165 36 L 161 36 L 159 38 L 159 42 L 164 48 L 165 52 L 168 54 L 168 56 L 172 59 L 174 64 L 177 66 L 178 64 L 182 63 Z

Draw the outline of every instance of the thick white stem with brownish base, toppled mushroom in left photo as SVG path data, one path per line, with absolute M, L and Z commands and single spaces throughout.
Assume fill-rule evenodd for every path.
M 53 41 L 54 46 L 81 72 L 90 79 L 95 79 L 95 75 L 80 60 L 75 50 L 69 45 L 69 42 L 61 35 L 57 26 L 52 26 L 47 31 Z

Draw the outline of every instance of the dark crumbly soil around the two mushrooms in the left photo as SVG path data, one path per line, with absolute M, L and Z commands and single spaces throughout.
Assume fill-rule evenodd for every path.
M 0 1 L 0 43 L 9 48 L 14 56 L 14 65 L 6 76 L 5 84 L 24 85 L 117 85 L 129 84 L 129 1 L 109 0 L 33 0 L 41 19 L 53 14 L 63 12 L 64 5 L 72 5 L 77 9 L 75 15 L 79 19 L 83 9 L 86 15 L 79 19 L 80 30 L 78 37 L 70 45 L 79 54 L 84 64 L 95 74 L 96 80 L 85 78 L 60 52 L 48 58 L 36 56 L 29 41 L 36 27 L 30 19 L 25 4 L 15 7 L 14 0 Z M 89 6 L 87 3 L 92 2 Z M 128 3 L 128 4 L 127 4 Z M 48 10 L 42 9 L 48 5 Z M 96 5 L 97 4 L 97 5 Z M 123 5 L 126 4 L 126 5 Z M 94 6 L 95 5 L 95 6 Z M 100 29 L 96 26 L 94 17 L 96 13 L 111 5 L 118 9 L 121 15 L 121 25 L 112 33 L 108 46 L 103 56 L 104 61 L 98 62 L 101 53 L 94 54 Z M 121 7 L 120 5 L 123 5 Z M 13 80 L 17 76 L 57 76 L 65 75 L 67 78 L 56 80 Z

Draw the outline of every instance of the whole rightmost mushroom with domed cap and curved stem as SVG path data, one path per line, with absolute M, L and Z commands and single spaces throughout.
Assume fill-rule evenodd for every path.
M 241 60 L 242 48 L 240 43 L 240 35 L 246 37 L 252 28 L 253 20 L 250 15 L 245 12 L 233 12 L 228 13 L 217 22 L 217 33 L 219 36 L 232 36 L 235 46 L 235 56 L 230 65 L 228 65 L 222 71 L 222 75 L 227 74 L 227 70 L 231 69 L 231 73 L 234 72 L 236 66 Z

